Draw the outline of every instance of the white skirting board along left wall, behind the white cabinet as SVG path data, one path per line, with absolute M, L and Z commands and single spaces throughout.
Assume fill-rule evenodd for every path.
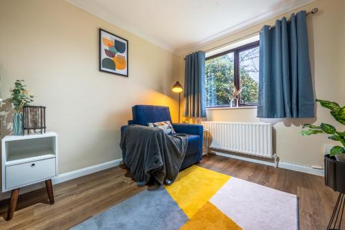
M 68 180 L 73 180 L 75 178 L 80 178 L 83 175 L 88 175 L 88 174 L 91 174 L 91 173 L 97 173 L 98 171 L 102 171 L 102 170 L 105 170 L 105 169 L 110 169 L 112 167 L 118 166 L 119 164 L 121 164 L 121 162 L 122 162 L 122 158 L 117 159 L 117 160 L 111 160 L 110 162 L 104 162 L 104 163 L 101 163 L 101 164 L 89 166 L 89 167 L 86 167 L 86 168 L 83 168 L 83 169 L 77 169 L 75 171 L 71 171 L 71 172 L 68 172 L 68 173 L 62 173 L 62 174 L 58 175 L 57 177 L 52 178 L 52 184 L 59 184 L 59 183 L 62 183 L 62 182 L 66 182 Z M 44 184 L 44 182 L 39 182 L 37 184 L 32 184 L 30 186 L 26 186 L 26 187 L 21 188 L 20 194 L 28 193 L 30 191 L 34 191 L 34 190 L 37 190 L 37 189 L 41 189 L 44 186 L 46 186 Z M 0 193 L 0 200 L 8 199 L 8 198 L 10 198 L 10 195 L 11 195 L 10 191 L 8 191 L 6 193 Z

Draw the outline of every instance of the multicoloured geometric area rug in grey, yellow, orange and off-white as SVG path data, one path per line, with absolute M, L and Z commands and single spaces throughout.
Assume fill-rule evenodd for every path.
M 191 166 L 170 186 L 143 191 L 79 229 L 298 229 L 297 196 Z

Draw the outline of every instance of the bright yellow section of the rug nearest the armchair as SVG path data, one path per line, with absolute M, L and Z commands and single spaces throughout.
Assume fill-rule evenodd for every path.
M 194 165 L 181 171 L 175 182 L 166 186 L 166 191 L 191 219 L 230 178 Z

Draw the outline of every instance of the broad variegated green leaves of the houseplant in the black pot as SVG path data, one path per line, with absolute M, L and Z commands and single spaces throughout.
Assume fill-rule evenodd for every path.
M 328 102 L 316 99 L 322 107 L 331 110 L 331 115 L 334 119 L 345 125 L 345 106 L 339 106 L 335 102 Z M 320 126 L 315 126 L 312 124 L 304 124 L 303 130 L 300 132 L 302 135 L 313 135 L 318 133 L 329 134 L 328 139 L 340 142 L 338 146 L 331 148 L 330 156 L 335 156 L 335 158 L 340 162 L 345 162 L 345 131 L 337 131 L 337 129 L 331 124 L 321 123 Z

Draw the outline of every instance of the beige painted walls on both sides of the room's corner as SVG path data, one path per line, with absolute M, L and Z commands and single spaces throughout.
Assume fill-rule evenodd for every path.
M 48 129 L 59 133 L 59 173 L 121 157 L 119 128 L 131 118 L 132 105 L 168 105 L 177 120 L 178 97 L 172 95 L 170 87 L 175 80 L 184 82 L 182 57 L 62 0 L 8 0 L 0 4 L 1 98 L 9 96 L 15 79 L 25 79 L 37 95 L 34 104 L 48 107 Z M 345 3 L 320 0 L 297 10 L 314 7 L 320 11 L 308 17 L 308 32 L 315 93 L 320 99 L 345 104 Z M 245 37 L 262 25 L 200 50 Z M 98 71 L 98 28 L 129 40 L 128 78 Z M 1 107 L 1 112 L 5 108 L 8 104 Z M 213 110 L 207 114 L 213 121 L 272 122 L 280 160 L 308 166 L 322 166 L 323 144 L 331 141 L 322 135 L 301 137 L 301 124 L 336 124 L 319 106 L 317 119 L 259 120 L 255 109 Z M 10 120 L 8 115 L 6 121 Z M 1 134 L 6 132 L 2 126 Z

